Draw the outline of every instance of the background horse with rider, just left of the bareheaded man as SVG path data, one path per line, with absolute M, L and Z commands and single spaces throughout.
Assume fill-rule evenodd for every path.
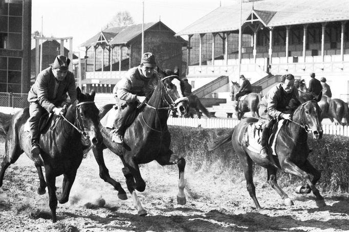
M 237 82 L 232 81 L 231 87 L 231 95 L 235 96 L 238 92 L 240 85 Z M 237 119 L 241 120 L 244 116 L 244 113 L 250 112 L 252 113 L 252 117 L 259 118 L 258 107 L 260 102 L 260 96 L 255 92 L 250 92 L 250 94 L 244 96 L 243 100 L 238 102 L 238 110 L 236 112 Z

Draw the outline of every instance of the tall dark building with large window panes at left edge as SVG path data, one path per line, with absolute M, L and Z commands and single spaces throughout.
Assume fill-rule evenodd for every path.
M 0 92 L 30 88 L 31 0 L 0 0 Z

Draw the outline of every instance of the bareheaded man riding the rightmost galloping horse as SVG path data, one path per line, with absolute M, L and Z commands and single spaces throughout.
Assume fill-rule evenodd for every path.
M 293 100 L 292 100 L 293 99 Z M 299 105 L 299 94 L 297 88 L 294 87 L 294 76 L 286 74 L 281 76 L 281 83 L 271 88 L 267 94 L 261 99 L 259 105 L 259 115 L 261 120 L 266 120 L 266 126 L 260 139 L 260 157 L 268 158 L 268 137 L 273 126 L 272 119 L 290 119 L 293 111 L 288 109 L 290 101 Z

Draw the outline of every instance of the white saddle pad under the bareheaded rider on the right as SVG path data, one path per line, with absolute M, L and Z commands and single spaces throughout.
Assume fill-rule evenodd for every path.
M 283 121 L 284 120 L 280 120 L 277 123 L 277 130 L 276 130 L 275 136 L 273 137 L 273 143 L 272 143 L 272 146 L 271 146 L 271 149 L 273 151 L 273 155 L 277 155 L 275 153 L 276 138 L 277 138 L 277 135 L 280 132 L 280 128 L 282 126 Z M 246 148 L 249 149 L 252 152 L 259 153 L 260 149 L 261 149 L 261 146 L 259 144 L 260 136 L 261 136 L 261 134 L 259 134 L 259 130 L 256 129 L 255 123 L 249 124 L 247 126 L 246 132 L 244 134 L 244 140 L 245 140 Z

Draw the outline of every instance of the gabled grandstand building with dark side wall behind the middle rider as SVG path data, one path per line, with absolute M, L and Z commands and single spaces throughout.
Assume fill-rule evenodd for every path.
M 161 21 L 144 24 L 144 52 L 154 53 L 162 69 L 178 66 L 185 72 L 182 47 L 186 40 L 174 34 Z M 105 29 L 82 43 L 80 47 L 85 49 L 86 61 L 82 89 L 111 92 L 129 68 L 139 65 L 141 44 L 141 24 Z

